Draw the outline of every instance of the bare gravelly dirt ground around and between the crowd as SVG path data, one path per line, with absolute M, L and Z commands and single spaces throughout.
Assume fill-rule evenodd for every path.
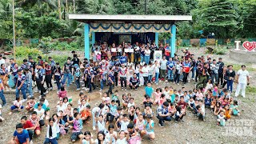
M 191 50 L 193 54 L 195 54 L 195 58 L 198 56 L 201 56 L 204 54 L 204 50 L 202 49 L 192 49 Z M 180 52 L 178 52 L 180 54 Z M 206 54 L 205 54 L 206 55 Z M 211 54 L 212 58 L 218 58 L 218 55 Z M 222 55 L 223 62 L 234 64 L 234 65 L 241 65 L 244 63 L 236 62 L 229 58 L 229 55 Z M 256 63 L 254 63 L 256 64 Z M 252 64 L 246 64 L 247 68 L 253 67 Z M 256 87 L 256 69 L 250 68 L 250 85 Z M 174 89 L 180 90 L 182 86 L 174 85 L 173 83 L 169 82 L 161 82 L 158 86 L 153 85 L 154 90 L 158 87 L 164 87 L 164 86 L 173 86 Z M 186 84 L 184 86 L 186 90 L 193 90 L 194 88 L 194 81 L 191 81 L 189 84 Z M 234 85 L 234 89 L 236 88 L 236 85 Z M 74 107 L 78 106 L 78 94 L 79 92 L 74 91 L 74 85 L 70 87 L 70 90 L 68 90 L 68 94 L 73 96 L 73 104 Z M 119 87 L 115 87 L 115 90 L 119 90 L 119 97 L 124 93 L 120 90 Z M 106 88 L 103 90 L 106 91 Z M 142 102 L 144 90 L 143 87 L 139 88 L 138 90 L 127 90 L 126 93 L 131 93 L 132 96 L 135 99 L 136 104 Z M 86 93 L 87 94 L 87 93 Z M 10 106 L 12 104 L 12 101 L 14 101 L 14 94 L 5 94 L 6 100 L 8 102 L 7 106 L 2 108 L 2 117 L 6 118 L 4 122 L 0 122 L 0 143 L 6 143 L 10 138 L 12 137 L 12 134 L 15 130 L 15 125 L 19 122 L 22 115 L 27 115 L 25 110 L 22 110 L 20 113 L 14 113 L 12 115 L 8 115 Z M 35 98 L 38 98 L 39 94 L 35 94 Z M 89 95 L 89 94 L 87 94 Z M 98 90 L 95 90 L 92 94 L 90 94 L 91 98 L 91 106 L 97 106 L 100 102 L 100 94 Z M 56 94 L 56 91 L 51 91 L 50 94 L 47 94 L 47 100 L 50 102 L 50 114 L 54 114 L 56 111 L 56 103 L 58 102 L 58 97 Z M 121 99 L 121 97 L 119 98 Z M 238 100 L 238 108 L 242 110 L 241 116 L 235 117 L 233 116 L 231 119 L 247 119 L 247 120 L 254 120 L 256 118 L 255 110 L 254 110 L 254 104 L 256 101 L 255 94 L 253 93 L 246 93 L 246 98 L 234 98 Z M 38 99 L 37 99 L 38 100 Z M 139 105 L 142 108 L 142 105 Z M 154 131 L 156 134 L 156 139 L 153 142 L 149 141 L 149 138 L 144 137 L 142 143 L 256 143 L 256 122 L 254 122 L 254 126 L 250 126 L 253 128 L 253 135 L 243 135 L 239 136 L 238 134 L 230 134 L 230 131 L 228 131 L 228 134 L 226 135 L 226 127 L 217 126 L 216 125 L 216 118 L 214 117 L 214 114 L 210 112 L 210 110 L 206 109 L 206 122 L 198 122 L 197 118 L 192 114 L 190 111 L 187 111 L 186 117 L 184 118 L 185 122 L 178 122 L 175 123 L 174 121 L 166 122 L 164 128 L 160 128 L 158 126 L 158 119 L 154 117 Z M 83 132 L 85 130 L 90 130 L 90 132 L 93 132 L 94 138 L 96 133 L 92 130 L 91 123 L 89 125 L 84 125 Z M 238 126 L 236 126 L 237 128 Z M 247 128 L 250 128 L 247 127 Z M 40 137 L 34 137 L 33 142 L 41 144 L 44 141 L 46 135 L 46 128 L 42 129 L 42 135 Z M 70 132 L 69 134 L 66 134 L 65 136 L 61 137 L 60 140 L 58 140 L 59 143 L 72 143 L 70 141 Z M 75 142 L 79 143 L 79 142 Z

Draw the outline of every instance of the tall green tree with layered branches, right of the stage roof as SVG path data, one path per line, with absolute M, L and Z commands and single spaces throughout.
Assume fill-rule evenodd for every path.
M 201 10 L 205 32 L 214 33 L 216 38 L 234 38 L 242 29 L 242 19 L 229 0 L 210 0 L 210 4 Z

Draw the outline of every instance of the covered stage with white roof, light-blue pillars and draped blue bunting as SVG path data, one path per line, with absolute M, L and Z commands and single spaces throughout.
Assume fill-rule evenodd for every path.
M 190 15 L 109 15 L 69 14 L 69 18 L 84 22 L 85 57 L 90 58 L 91 44 L 96 42 L 155 42 L 158 46 L 159 33 L 170 32 L 171 57 L 174 57 L 176 26 L 178 21 L 191 21 Z

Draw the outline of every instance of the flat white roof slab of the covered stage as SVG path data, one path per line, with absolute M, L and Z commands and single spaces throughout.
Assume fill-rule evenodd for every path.
M 69 14 L 69 18 L 85 23 L 110 24 L 174 24 L 192 20 L 190 15 Z

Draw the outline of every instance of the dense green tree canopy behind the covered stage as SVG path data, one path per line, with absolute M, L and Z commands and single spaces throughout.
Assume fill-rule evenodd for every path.
M 68 13 L 145 14 L 145 6 L 146 14 L 192 15 L 193 21 L 177 23 L 178 38 L 256 34 L 256 0 L 15 0 L 17 38 L 81 36 L 82 23 L 68 20 Z M 13 38 L 11 0 L 0 1 L 0 38 Z

